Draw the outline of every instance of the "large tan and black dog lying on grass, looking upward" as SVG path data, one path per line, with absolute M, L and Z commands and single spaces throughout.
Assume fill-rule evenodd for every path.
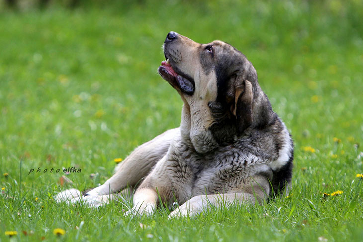
M 287 191 L 293 142 L 251 62 L 222 41 L 199 44 L 175 32 L 164 54 L 158 71 L 184 102 L 180 127 L 136 148 L 103 185 L 84 195 L 66 190 L 56 200 L 99 206 L 129 186 L 136 189 L 131 213 L 177 202 L 170 216 L 179 216 Z

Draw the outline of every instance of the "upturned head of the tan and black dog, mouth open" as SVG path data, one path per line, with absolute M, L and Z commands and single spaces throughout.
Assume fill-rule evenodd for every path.
M 181 132 L 199 153 L 231 143 L 248 129 L 272 118 L 256 70 L 233 46 L 222 41 L 199 44 L 175 32 L 164 42 L 159 74 L 180 94 Z

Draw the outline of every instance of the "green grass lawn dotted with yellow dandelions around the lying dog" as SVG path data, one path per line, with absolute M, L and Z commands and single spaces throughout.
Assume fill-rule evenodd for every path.
M 53 241 L 55 228 L 71 242 L 361 241 L 363 2 L 308 2 L 0 11 L 0 241 L 11 230 L 11 241 Z M 60 189 L 104 182 L 114 158 L 179 126 L 180 97 L 156 72 L 170 30 L 229 42 L 254 64 L 295 140 L 291 195 L 171 221 L 125 217 L 119 203 L 56 204 Z M 73 185 L 49 172 L 73 166 Z M 28 174 L 38 167 L 48 172 Z

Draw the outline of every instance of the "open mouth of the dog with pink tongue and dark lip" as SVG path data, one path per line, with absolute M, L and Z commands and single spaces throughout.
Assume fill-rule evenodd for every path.
M 193 94 L 195 89 L 194 80 L 185 78 L 186 75 L 178 74 L 174 71 L 169 59 L 161 62 L 158 72 L 162 78 L 169 82 L 174 88 L 180 89 L 186 94 Z

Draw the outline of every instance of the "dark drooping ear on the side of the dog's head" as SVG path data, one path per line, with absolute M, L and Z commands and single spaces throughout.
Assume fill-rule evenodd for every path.
M 232 113 L 236 117 L 237 130 L 240 134 L 253 122 L 252 99 L 251 82 L 237 79 L 235 82 L 235 100 Z

